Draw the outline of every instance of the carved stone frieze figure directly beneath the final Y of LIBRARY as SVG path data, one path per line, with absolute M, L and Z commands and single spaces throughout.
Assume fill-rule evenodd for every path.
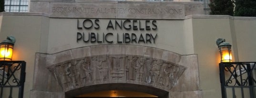
M 159 74 L 160 74 L 160 67 L 163 65 L 163 60 L 158 59 L 156 61 L 156 64 L 152 66 L 152 68 L 149 70 L 149 80 L 147 81 L 150 84 L 153 84 L 156 82 Z

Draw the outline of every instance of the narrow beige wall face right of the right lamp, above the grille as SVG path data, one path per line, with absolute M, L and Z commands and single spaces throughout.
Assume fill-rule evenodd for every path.
M 256 56 L 256 20 L 237 18 L 234 20 L 234 29 L 236 34 L 238 60 L 255 61 Z

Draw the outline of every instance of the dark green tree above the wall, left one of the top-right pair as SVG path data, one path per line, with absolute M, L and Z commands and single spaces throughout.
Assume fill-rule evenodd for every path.
M 211 15 L 234 15 L 234 0 L 210 0 Z

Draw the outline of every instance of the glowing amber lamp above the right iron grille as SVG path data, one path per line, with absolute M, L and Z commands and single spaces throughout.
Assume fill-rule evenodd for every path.
M 216 44 L 218 45 L 220 51 L 221 62 L 231 62 L 231 45 L 228 42 L 225 42 L 225 39 L 217 39 Z

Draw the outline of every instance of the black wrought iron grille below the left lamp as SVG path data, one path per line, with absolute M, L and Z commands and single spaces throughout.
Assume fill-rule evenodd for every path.
M 0 61 L 0 98 L 23 98 L 25 69 L 25 61 Z

